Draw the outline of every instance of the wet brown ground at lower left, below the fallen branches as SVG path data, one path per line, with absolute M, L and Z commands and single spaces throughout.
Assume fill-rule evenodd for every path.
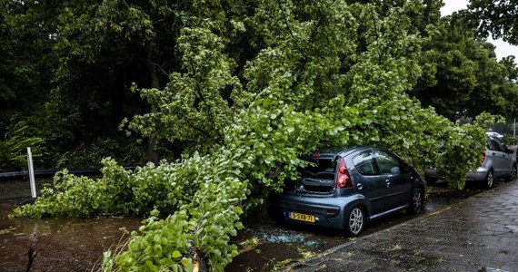
M 0 270 L 96 271 L 105 250 L 125 242 L 142 219 L 8 219 L 15 200 L 0 201 Z

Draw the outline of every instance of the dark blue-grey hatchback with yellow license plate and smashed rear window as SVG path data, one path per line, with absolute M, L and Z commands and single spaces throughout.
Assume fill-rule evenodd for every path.
M 423 209 L 424 181 L 412 165 L 378 147 L 328 148 L 303 157 L 299 180 L 268 200 L 277 222 L 343 229 L 356 236 L 367 222 Z

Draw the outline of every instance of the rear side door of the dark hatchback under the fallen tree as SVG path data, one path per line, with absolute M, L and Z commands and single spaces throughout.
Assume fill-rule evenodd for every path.
M 373 151 L 362 151 L 355 155 L 353 164 L 359 174 L 359 179 L 354 182 L 354 188 L 369 200 L 373 215 L 384 211 L 386 184 L 374 160 Z

